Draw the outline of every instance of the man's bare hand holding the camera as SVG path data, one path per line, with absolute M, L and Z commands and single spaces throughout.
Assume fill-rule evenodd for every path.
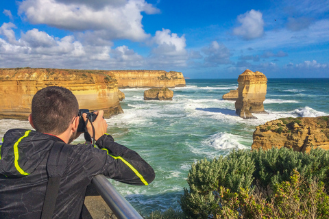
M 94 112 L 97 114 L 97 118 L 95 121 L 93 121 L 93 126 L 95 129 L 95 140 L 97 141 L 103 134 L 106 133 L 108 130 L 108 124 L 106 123 L 106 120 L 103 118 L 103 110 L 99 110 L 99 112 Z M 84 118 L 84 121 L 87 120 L 87 114 L 82 114 L 82 117 Z M 86 125 L 87 130 L 91 138 L 93 138 L 93 127 L 91 127 L 90 121 L 88 120 L 88 123 Z

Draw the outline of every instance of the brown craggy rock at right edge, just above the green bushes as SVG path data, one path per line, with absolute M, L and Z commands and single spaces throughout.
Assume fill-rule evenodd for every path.
M 256 127 L 252 149 L 287 147 L 310 151 L 311 147 L 329 149 L 329 116 L 280 118 Z

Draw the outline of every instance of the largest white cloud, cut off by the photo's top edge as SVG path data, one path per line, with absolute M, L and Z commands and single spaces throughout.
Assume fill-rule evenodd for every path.
M 19 14 L 31 23 L 70 31 L 103 31 L 110 40 L 148 38 L 141 12 L 159 10 L 145 0 L 25 0 L 19 5 Z

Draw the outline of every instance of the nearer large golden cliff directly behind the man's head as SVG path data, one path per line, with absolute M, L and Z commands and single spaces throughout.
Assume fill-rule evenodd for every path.
M 104 117 L 122 113 L 118 83 L 106 70 L 0 68 L 0 118 L 27 119 L 34 94 L 62 86 L 75 94 L 80 108 L 104 110 Z

